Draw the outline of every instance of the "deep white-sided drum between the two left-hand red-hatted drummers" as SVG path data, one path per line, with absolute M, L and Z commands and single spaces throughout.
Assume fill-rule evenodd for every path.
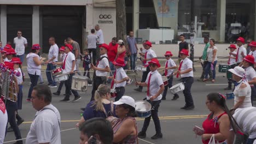
M 87 76 L 74 75 L 72 77 L 71 89 L 83 92 L 87 91 L 88 80 L 89 78 Z

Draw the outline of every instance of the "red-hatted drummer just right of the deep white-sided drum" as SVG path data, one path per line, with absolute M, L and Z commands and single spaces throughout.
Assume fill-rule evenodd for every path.
M 91 69 L 94 70 L 94 83 L 92 85 L 91 91 L 91 101 L 94 100 L 95 91 L 98 89 L 98 86 L 105 84 L 107 80 L 107 74 L 110 71 L 109 62 L 107 57 L 107 52 L 109 47 L 107 44 L 102 44 L 100 47 L 100 58 L 97 60 L 96 65 L 91 64 Z

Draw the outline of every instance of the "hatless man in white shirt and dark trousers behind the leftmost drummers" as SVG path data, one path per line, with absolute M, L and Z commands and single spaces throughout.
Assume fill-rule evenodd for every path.
M 53 76 L 51 76 L 51 70 L 56 69 L 56 66 L 53 65 L 53 62 L 58 61 L 59 47 L 55 43 L 55 38 L 54 37 L 49 38 L 49 44 L 51 45 L 51 47 L 50 47 L 50 50 L 49 50 L 49 53 L 48 53 L 48 61 L 45 62 L 45 63 L 47 63 L 46 77 L 47 77 L 47 80 L 48 80 L 48 86 L 49 87 L 57 87 L 57 84 L 54 81 Z

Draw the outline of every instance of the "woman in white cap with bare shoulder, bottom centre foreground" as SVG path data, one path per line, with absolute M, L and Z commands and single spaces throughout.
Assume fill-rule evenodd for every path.
M 135 121 L 135 100 L 124 95 L 113 104 L 116 105 L 115 113 L 119 117 L 113 125 L 113 143 L 138 143 L 138 132 Z

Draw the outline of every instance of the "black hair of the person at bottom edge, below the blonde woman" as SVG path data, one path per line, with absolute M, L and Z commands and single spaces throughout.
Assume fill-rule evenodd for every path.
M 91 118 L 85 121 L 79 130 L 82 131 L 84 135 L 87 135 L 88 139 L 91 136 L 99 135 L 100 140 L 104 144 L 112 144 L 114 139 L 114 133 L 111 124 L 102 117 Z

